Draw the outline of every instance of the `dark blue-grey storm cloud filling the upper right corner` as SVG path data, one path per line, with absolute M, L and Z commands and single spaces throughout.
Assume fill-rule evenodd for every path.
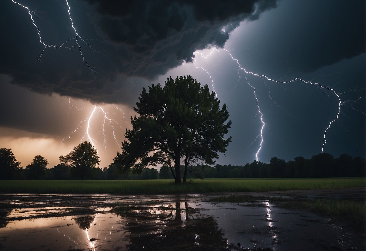
M 365 10 L 364 0 L 283 0 L 259 22 L 249 23 L 250 32 L 241 34 L 245 42 L 239 35 L 232 47 L 252 48 L 240 60 L 255 72 L 307 74 L 366 52 Z

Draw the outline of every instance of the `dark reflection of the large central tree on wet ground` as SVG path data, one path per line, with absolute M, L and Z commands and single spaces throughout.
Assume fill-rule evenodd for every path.
M 227 239 L 214 217 L 198 213 L 188 202 L 172 205 L 121 215 L 128 219 L 127 250 L 227 250 Z

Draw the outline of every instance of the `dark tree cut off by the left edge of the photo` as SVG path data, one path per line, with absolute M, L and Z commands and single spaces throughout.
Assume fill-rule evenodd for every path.
M 14 178 L 20 162 L 16 160 L 11 149 L 0 149 L 0 180 L 11 180 Z

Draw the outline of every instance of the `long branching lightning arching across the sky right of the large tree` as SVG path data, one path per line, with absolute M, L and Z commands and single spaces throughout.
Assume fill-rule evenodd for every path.
M 294 78 L 294 79 L 292 79 L 292 80 L 290 80 L 290 81 L 282 81 L 282 80 L 275 80 L 275 79 L 271 79 L 271 78 L 269 78 L 268 76 L 266 76 L 266 75 L 259 75 L 259 74 L 255 74 L 255 73 L 253 73 L 253 72 L 251 72 L 251 71 L 247 71 L 245 68 L 243 68 L 242 67 L 242 65 L 239 63 L 239 61 L 238 61 L 238 59 L 236 59 L 232 54 L 231 54 L 231 52 L 229 51 L 229 50 L 227 50 L 227 49 L 221 49 L 221 50 L 223 50 L 224 52 L 226 52 L 226 53 L 228 53 L 228 55 L 231 57 L 231 59 L 233 60 L 233 61 L 235 61 L 236 62 L 236 64 L 238 65 L 238 67 L 239 67 L 239 70 L 241 70 L 241 71 L 243 71 L 243 72 L 245 72 L 245 74 L 247 74 L 247 75 L 253 75 L 253 76 L 256 76 L 256 77 L 258 77 L 258 78 L 261 78 L 261 79 L 263 79 L 264 81 L 271 81 L 271 82 L 275 82 L 275 83 L 278 83 L 279 85 L 281 85 L 281 84 L 288 84 L 288 83 L 292 83 L 292 82 L 301 82 L 301 83 L 303 83 L 303 84 L 306 84 L 306 85 L 315 85 L 315 86 L 318 86 L 318 87 L 320 87 L 321 89 L 323 89 L 324 90 L 324 92 L 326 93 L 326 94 L 328 94 L 329 95 L 329 93 L 328 93 L 328 91 L 330 91 L 331 93 L 333 93 L 334 95 L 336 95 L 336 97 L 337 97 L 337 99 L 338 99 L 338 111 L 337 111 L 337 115 L 336 115 L 336 117 L 332 120 L 332 121 L 330 121 L 329 122 L 329 124 L 328 124 L 328 127 L 324 130 L 324 134 L 323 134 L 323 137 L 324 137 L 324 143 L 322 144 L 322 147 L 321 147 L 321 152 L 323 153 L 323 151 L 324 151 L 324 147 L 325 147 L 325 145 L 326 145 L 326 133 L 327 133 L 327 131 L 328 130 L 331 130 L 331 126 L 332 126 L 332 124 L 335 122 L 335 121 L 337 121 L 337 119 L 339 118 L 339 114 L 340 114 L 340 109 L 341 109 L 341 105 L 345 105 L 345 101 L 341 101 L 341 98 L 340 98 L 340 94 L 338 94 L 338 93 L 336 93 L 336 91 L 334 90 L 334 89 L 332 89 L 331 87 L 328 87 L 328 86 L 322 86 L 322 85 L 320 85 L 319 83 L 313 83 L 313 82 L 311 82 L 311 81 L 306 81 L 306 80 L 303 80 L 303 79 L 301 79 L 301 78 Z M 218 49 L 216 49 L 216 48 L 214 48 L 207 56 L 203 56 L 203 54 L 201 53 L 201 52 L 198 52 L 198 51 L 196 51 L 196 52 L 194 52 L 194 55 L 197 55 L 197 54 L 199 54 L 199 55 L 201 55 L 204 59 L 206 59 L 207 57 L 209 57 L 209 56 L 211 56 L 212 55 L 212 53 L 213 52 L 220 52 L 221 50 L 218 50 Z M 195 58 L 194 59 L 194 61 L 193 61 L 193 63 L 194 63 L 194 65 L 195 65 L 195 67 L 196 68 L 200 68 L 200 69 L 202 69 L 203 71 L 205 71 L 207 74 L 208 74 L 208 76 L 210 77 L 210 79 L 212 80 L 212 86 L 214 86 L 214 81 L 213 81 L 213 79 L 212 79 L 212 77 L 211 77 L 211 75 L 209 74 L 209 72 L 207 71 L 207 70 L 205 70 L 204 68 L 202 68 L 201 66 L 197 66 L 197 58 Z M 239 75 L 239 70 L 238 70 L 238 75 Z M 238 84 L 239 84 L 239 81 L 240 81 L 240 75 L 239 75 L 239 78 L 238 78 L 238 83 L 237 83 L 237 85 L 236 86 L 238 86 Z M 247 84 L 250 86 L 250 87 L 252 87 L 253 88 L 253 93 L 254 93 L 254 98 L 255 98 L 255 100 L 256 100 L 256 105 L 257 105 L 257 107 L 258 107 L 258 113 L 257 113 L 257 115 L 260 115 L 260 120 L 261 120 L 261 123 L 262 123 L 262 126 L 261 126 L 261 130 L 260 130 L 260 132 L 259 132 L 259 135 L 254 139 L 254 141 L 251 143 L 251 144 L 253 144 L 258 138 L 260 138 L 261 139 L 261 141 L 260 141 L 260 143 L 259 143 L 259 148 L 258 148 L 258 150 L 257 150 L 257 152 L 255 153 L 255 158 L 256 158 L 256 160 L 258 161 L 258 159 L 259 159 L 259 153 L 260 153 L 260 151 L 261 151 L 261 149 L 262 149 L 262 146 L 263 146 L 263 142 L 264 142 L 264 138 L 263 138 L 263 131 L 264 131 L 264 128 L 265 128 L 265 126 L 266 126 L 266 123 L 264 122 L 264 120 L 263 120 L 263 113 L 261 112 L 261 109 L 260 109 L 260 106 L 259 106 L 259 103 L 258 103 L 258 97 L 257 97 L 257 93 L 256 93 L 256 89 L 255 89 L 255 87 L 254 86 L 252 86 L 252 85 L 250 85 L 250 83 L 249 83 L 249 81 L 248 81 L 248 79 L 246 78 L 246 81 L 247 81 Z M 269 85 L 265 82 L 265 85 L 269 88 Z M 235 87 L 234 87 L 235 88 Z M 217 93 L 216 93 L 216 91 L 215 91 L 215 94 L 216 94 L 216 96 L 217 96 Z M 270 88 L 269 88 L 269 95 L 270 95 Z M 274 100 L 273 100 L 273 98 L 272 97 L 270 97 L 270 99 L 272 100 L 272 102 L 274 102 L 277 106 L 279 106 Z M 351 102 L 348 102 L 348 104 L 351 106 Z M 284 108 L 282 108 L 281 106 L 279 106 L 281 109 L 283 109 L 283 110 L 285 110 Z M 286 112 L 287 112 L 287 110 L 285 110 Z M 287 112 L 288 113 L 288 112 Z M 289 114 L 289 113 L 288 113 Z M 250 145 L 251 145 L 250 144 Z

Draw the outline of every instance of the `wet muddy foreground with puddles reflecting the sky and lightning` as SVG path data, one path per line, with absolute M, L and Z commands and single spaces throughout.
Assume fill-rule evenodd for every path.
M 365 224 L 291 206 L 365 188 L 235 194 L 2 194 L 0 250 L 366 250 Z

